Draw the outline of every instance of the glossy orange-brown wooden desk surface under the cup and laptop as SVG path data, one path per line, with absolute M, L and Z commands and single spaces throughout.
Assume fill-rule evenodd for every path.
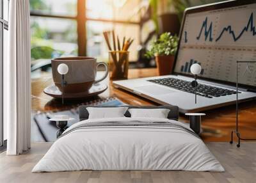
M 156 68 L 130 69 L 129 78 L 156 76 Z M 99 97 L 115 96 L 126 104 L 131 105 L 159 105 L 150 100 L 143 99 L 132 93 L 114 88 L 109 79 L 108 90 L 100 94 Z M 60 100 L 52 99 L 43 92 L 46 86 L 52 84 L 51 73 L 45 73 L 38 79 L 32 79 L 32 110 L 33 111 L 52 111 L 60 109 L 68 109 L 86 100 L 78 100 L 65 102 L 63 106 Z M 97 98 L 95 98 L 97 99 Z M 239 104 L 239 127 L 243 138 L 256 138 L 256 102 L 246 102 Z M 205 132 L 202 134 L 204 141 L 230 141 L 230 131 L 235 129 L 236 122 L 236 106 L 221 107 L 211 111 L 204 111 L 206 116 L 202 118 L 202 126 Z M 180 115 L 180 121 L 188 122 L 188 116 Z

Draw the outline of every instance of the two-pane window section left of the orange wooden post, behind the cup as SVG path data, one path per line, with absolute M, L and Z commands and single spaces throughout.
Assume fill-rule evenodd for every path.
M 29 3 L 31 72 L 38 68 L 42 71 L 51 70 L 51 58 L 77 56 L 76 1 L 30 0 Z

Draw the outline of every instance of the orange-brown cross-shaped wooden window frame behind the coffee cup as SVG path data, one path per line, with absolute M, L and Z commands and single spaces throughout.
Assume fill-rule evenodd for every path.
M 33 17 L 46 17 L 46 18 L 58 18 L 58 19 L 72 19 L 77 22 L 77 46 L 78 56 L 86 56 L 86 22 L 97 21 L 97 22 L 111 22 L 113 24 L 136 24 L 141 26 L 140 21 L 125 21 L 125 20 L 109 20 L 109 19 L 92 19 L 86 17 L 86 0 L 77 0 L 77 15 L 76 16 L 65 16 L 65 15 L 54 15 L 49 13 L 42 13 L 38 11 L 30 11 L 30 16 Z

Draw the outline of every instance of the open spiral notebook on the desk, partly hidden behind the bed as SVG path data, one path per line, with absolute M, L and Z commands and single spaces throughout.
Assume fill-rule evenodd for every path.
M 90 102 L 83 103 L 81 105 L 90 105 L 90 106 L 125 106 L 124 102 L 117 99 L 116 97 L 109 97 L 107 99 L 99 99 L 93 100 Z M 74 107 L 70 110 L 65 111 L 57 111 L 57 112 L 47 112 L 47 113 L 36 113 L 33 115 L 33 121 L 35 122 L 40 134 L 44 141 L 55 141 L 56 133 L 59 130 L 56 127 L 56 122 L 49 121 L 55 115 L 68 115 L 70 118 L 74 118 L 75 120 L 68 121 L 67 127 L 70 125 L 79 122 L 79 107 Z M 33 135 L 36 135 L 35 133 Z

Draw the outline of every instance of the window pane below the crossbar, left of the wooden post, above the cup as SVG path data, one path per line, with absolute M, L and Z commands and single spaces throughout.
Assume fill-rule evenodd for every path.
M 75 20 L 31 17 L 31 62 L 77 55 Z

